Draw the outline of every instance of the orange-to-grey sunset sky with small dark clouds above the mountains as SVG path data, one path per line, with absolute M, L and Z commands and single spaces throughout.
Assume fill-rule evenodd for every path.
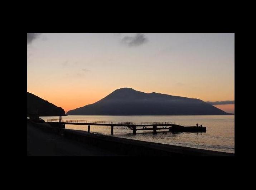
M 235 34 L 29 33 L 27 58 L 28 92 L 65 112 L 123 87 L 235 100 Z

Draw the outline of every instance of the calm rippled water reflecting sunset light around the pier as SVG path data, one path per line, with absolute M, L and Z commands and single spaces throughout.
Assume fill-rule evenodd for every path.
M 59 119 L 59 117 L 40 117 L 47 119 Z M 220 152 L 235 153 L 235 115 L 179 115 L 179 116 L 106 116 L 106 115 L 71 115 L 62 116 L 62 119 L 95 120 L 95 121 L 120 121 L 120 122 L 166 122 L 172 121 L 179 125 L 192 126 L 196 123 L 206 127 L 206 133 L 173 133 L 169 131 L 136 131 L 127 127 L 114 127 L 115 137 L 144 140 L 149 142 L 179 145 L 199 149 L 216 150 Z M 87 131 L 87 125 L 66 125 L 67 129 Z M 111 135 L 110 126 L 91 125 L 91 133 Z

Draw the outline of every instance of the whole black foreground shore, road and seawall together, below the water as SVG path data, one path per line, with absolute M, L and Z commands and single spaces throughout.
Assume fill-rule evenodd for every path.
M 27 130 L 29 156 L 234 156 L 232 153 L 56 128 L 47 123 L 28 122 Z

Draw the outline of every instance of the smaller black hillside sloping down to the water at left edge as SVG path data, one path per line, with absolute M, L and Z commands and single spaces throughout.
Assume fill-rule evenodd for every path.
M 38 113 L 39 116 L 65 115 L 64 109 L 27 92 L 27 116 Z

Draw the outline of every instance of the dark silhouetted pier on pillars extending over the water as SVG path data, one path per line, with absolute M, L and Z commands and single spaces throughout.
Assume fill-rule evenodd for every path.
M 206 132 L 206 127 L 182 126 L 175 122 L 143 122 L 140 124 L 132 122 L 106 122 L 106 121 L 87 121 L 87 120 L 68 120 L 68 119 L 48 119 L 52 127 L 65 128 L 65 125 L 87 125 L 87 132 L 90 133 L 91 125 L 111 126 L 111 135 L 114 133 L 114 126 L 128 127 L 132 130 L 132 134 L 136 134 L 137 130 L 153 130 L 153 134 L 157 130 L 169 130 L 170 132 Z

